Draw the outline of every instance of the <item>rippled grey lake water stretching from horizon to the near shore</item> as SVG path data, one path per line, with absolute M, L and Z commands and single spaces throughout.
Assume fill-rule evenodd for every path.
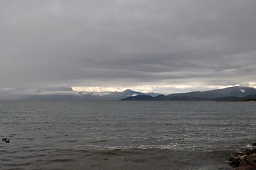
M 0 169 L 232 169 L 255 102 L 0 101 Z

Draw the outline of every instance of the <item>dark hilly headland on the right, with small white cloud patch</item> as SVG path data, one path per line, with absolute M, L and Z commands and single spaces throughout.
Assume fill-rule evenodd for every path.
M 234 86 L 211 91 L 193 91 L 170 95 L 138 95 L 123 98 L 122 101 L 242 101 L 256 100 L 256 89 L 252 87 Z

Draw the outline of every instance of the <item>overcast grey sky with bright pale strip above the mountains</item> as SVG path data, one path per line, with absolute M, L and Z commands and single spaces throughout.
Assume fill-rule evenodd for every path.
M 256 86 L 255 0 L 0 1 L 0 89 Z

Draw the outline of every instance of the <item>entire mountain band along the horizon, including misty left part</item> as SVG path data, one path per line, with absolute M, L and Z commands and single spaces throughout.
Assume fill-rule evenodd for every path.
M 1 92 L 1 91 L 0 91 Z M 178 94 L 142 93 L 127 89 L 122 92 L 73 91 L 70 87 L 45 88 L 36 91 L 14 89 L 0 93 L 0 99 L 16 100 L 108 100 L 108 101 L 240 101 L 256 98 L 256 89 L 234 86 L 210 91 L 192 91 Z

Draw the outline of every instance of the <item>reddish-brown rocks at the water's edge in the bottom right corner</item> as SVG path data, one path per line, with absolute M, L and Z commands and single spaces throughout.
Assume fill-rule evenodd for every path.
M 229 159 L 233 170 L 256 170 L 256 143 Z

